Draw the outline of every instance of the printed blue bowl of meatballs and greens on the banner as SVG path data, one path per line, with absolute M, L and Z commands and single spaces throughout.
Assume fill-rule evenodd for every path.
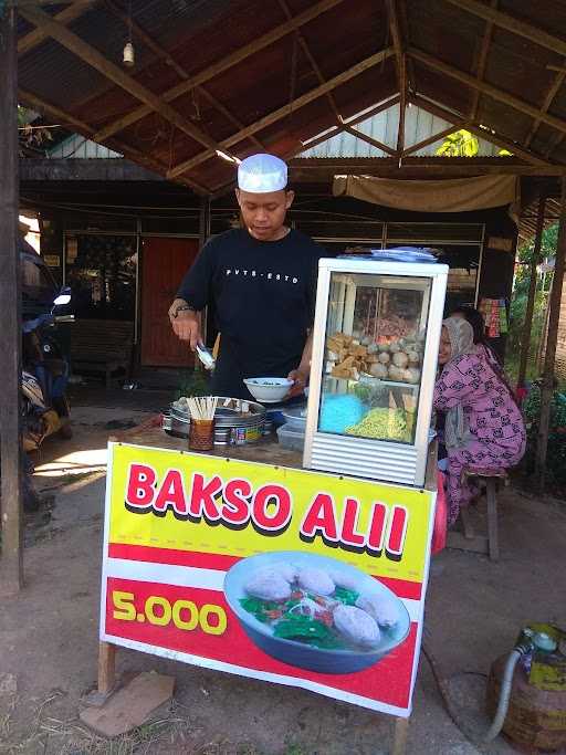
M 227 573 L 224 595 L 258 648 L 318 673 L 367 669 L 410 628 L 405 605 L 385 585 L 317 554 L 281 550 L 243 558 Z

